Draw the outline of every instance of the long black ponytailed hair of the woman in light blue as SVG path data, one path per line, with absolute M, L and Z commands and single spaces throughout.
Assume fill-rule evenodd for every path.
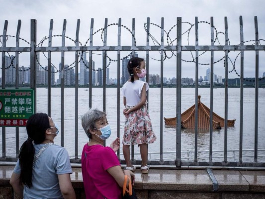
M 40 144 L 45 140 L 45 131 L 50 128 L 49 117 L 46 113 L 35 113 L 29 117 L 26 124 L 28 139 L 22 144 L 19 150 L 19 165 L 21 173 L 19 176 L 20 184 L 32 187 L 32 168 L 35 157 L 35 144 Z

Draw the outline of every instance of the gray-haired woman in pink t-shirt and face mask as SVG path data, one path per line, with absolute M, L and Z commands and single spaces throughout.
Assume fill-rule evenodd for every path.
M 134 184 L 134 173 L 122 171 L 115 152 L 120 147 L 116 138 L 109 147 L 103 143 L 110 134 L 106 113 L 98 109 L 89 109 L 82 116 L 82 126 L 90 139 L 82 152 L 82 175 L 87 199 L 121 199 L 125 175 Z M 129 187 L 127 182 L 127 187 Z

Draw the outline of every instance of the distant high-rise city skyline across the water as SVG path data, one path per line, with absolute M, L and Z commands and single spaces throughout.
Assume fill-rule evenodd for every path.
M 37 53 L 37 56 L 39 57 L 39 53 Z M 135 53 L 133 56 L 138 57 L 138 54 Z M 13 65 L 15 65 L 15 60 L 13 57 L 11 59 L 8 56 L 5 56 L 5 64 L 6 64 L 6 70 L 5 70 L 5 83 L 9 85 L 15 84 L 15 69 L 11 65 L 11 60 L 13 60 Z M 129 59 L 124 59 L 122 62 L 122 68 L 121 70 L 121 77 L 120 77 L 120 84 L 123 85 L 125 82 L 129 79 L 129 73 L 127 70 L 127 64 Z M 89 84 L 89 62 L 86 57 L 86 53 L 83 55 L 83 60 L 80 62 L 80 71 L 79 71 L 79 85 L 88 85 Z M 103 67 L 103 66 L 102 66 Z M 68 64 L 65 64 L 64 70 L 62 70 L 62 63 L 59 63 L 59 78 L 55 78 L 55 66 L 51 66 L 51 85 L 57 85 L 61 84 L 62 77 L 64 78 L 64 84 L 66 86 L 68 85 L 74 85 L 75 84 L 75 69 L 71 68 Z M 63 71 L 63 72 L 62 72 Z M 198 82 L 205 82 L 205 84 L 208 84 L 210 82 L 210 68 L 207 68 L 205 71 L 204 79 L 202 76 L 198 78 Z M 109 76 L 110 69 L 106 68 L 106 85 L 111 84 L 117 84 L 117 78 L 112 78 Z M 265 75 L 265 74 L 264 74 Z M 37 64 L 37 70 L 36 70 L 36 77 L 37 77 L 37 84 L 38 85 L 47 85 L 48 84 L 48 67 L 47 66 L 40 66 L 40 64 Z M 28 84 L 30 83 L 30 68 L 21 66 L 19 67 L 19 84 Z M 144 80 L 143 80 L 144 81 Z M 149 84 L 150 85 L 158 85 L 161 82 L 161 78 L 159 74 L 149 74 Z M 187 83 L 193 84 L 195 80 L 190 77 L 181 77 L 181 84 Z M 95 69 L 95 62 L 92 60 L 92 85 L 93 86 L 102 86 L 103 85 L 103 70 L 102 68 Z M 176 84 L 176 78 L 175 77 L 163 77 L 163 82 L 168 84 Z M 222 76 L 217 76 L 216 74 L 213 74 L 213 82 L 214 84 L 219 83 L 222 84 Z

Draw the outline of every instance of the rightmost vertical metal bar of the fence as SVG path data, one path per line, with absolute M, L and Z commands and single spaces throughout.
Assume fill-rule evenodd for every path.
M 259 29 L 258 18 L 254 17 L 255 21 L 255 40 L 256 46 L 259 45 Z M 258 161 L 258 121 L 259 121 L 259 50 L 256 50 L 255 63 L 255 146 L 254 146 L 254 162 Z

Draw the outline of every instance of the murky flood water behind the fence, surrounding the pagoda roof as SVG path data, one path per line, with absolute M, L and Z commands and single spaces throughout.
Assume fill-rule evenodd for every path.
M 79 118 L 88 110 L 88 91 L 87 88 L 79 88 Z M 47 89 L 37 89 L 37 112 L 47 112 Z M 224 117 L 224 89 L 218 88 L 213 90 L 213 111 Z M 92 89 L 92 107 L 102 110 L 101 88 Z M 201 95 L 201 102 L 210 107 L 210 89 L 201 88 L 198 91 Z M 51 117 L 61 127 L 61 89 L 53 88 L 51 92 Z M 111 125 L 112 134 L 106 141 L 106 145 L 117 136 L 117 115 L 120 116 L 120 137 L 123 136 L 124 115 L 122 114 L 123 99 L 120 98 L 120 113 L 117 114 L 117 89 L 106 89 L 106 113 L 108 121 Z M 181 90 L 181 113 L 195 103 L 195 89 L 182 88 Z M 163 100 L 163 117 L 176 116 L 176 88 L 164 89 Z M 149 113 L 152 120 L 154 132 L 157 135 L 157 141 L 149 145 L 149 152 L 160 151 L 160 136 L 163 134 L 163 152 L 176 152 L 176 128 L 167 128 L 163 120 L 163 132 L 160 132 L 160 88 L 151 88 L 149 91 Z M 255 134 L 255 89 L 244 89 L 244 117 L 243 117 L 243 150 L 254 149 Z M 239 150 L 239 121 L 240 121 L 240 89 L 231 88 L 228 90 L 228 119 L 236 119 L 235 127 L 228 128 L 228 150 Z M 27 138 L 24 127 L 20 127 L 19 145 Z M 0 129 L 1 132 L 1 129 Z M 258 149 L 265 149 L 265 89 L 259 89 L 259 125 L 258 125 Z M 88 138 L 81 126 L 81 119 L 78 124 L 78 153 L 81 155 L 83 146 L 88 142 Z M 56 144 L 61 144 L 61 132 L 55 139 Z M 181 131 L 181 151 L 194 150 L 195 136 L 193 130 L 183 129 Z M 208 160 L 209 153 L 209 131 L 200 130 L 198 132 L 198 159 Z M 0 155 L 2 151 L 2 142 L 0 137 Z M 75 154 L 75 89 L 65 89 L 65 148 L 70 155 Z M 213 131 L 213 151 L 221 150 L 221 152 L 213 152 L 213 161 L 222 161 L 224 149 L 224 129 Z M 122 150 L 121 150 L 122 151 Z M 135 147 L 135 153 L 139 153 L 139 148 Z M 181 153 L 183 158 L 187 156 L 187 152 Z M 238 152 L 236 153 L 238 155 Z M 251 157 L 244 157 L 244 156 Z M 265 151 L 258 151 L 258 156 L 265 155 Z M 6 128 L 6 156 L 15 156 L 15 128 Z M 192 156 L 192 154 L 191 154 Z M 233 156 L 232 152 L 228 152 L 228 156 Z M 254 151 L 244 151 L 243 161 L 254 161 Z M 135 156 L 140 159 L 139 155 Z M 206 157 L 206 158 L 205 158 Z M 123 158 L 121 156 L 121 158 Z M 159 159 L 160 155 L 153 154 L 152 159 Z M 176 154 L 163 154 L 164 159 L 175 159 Z M 186 160 L 186 159 L 183 159 Z M 233 161 L 228 157 L 228 161 Z M 235 159 L 238 161 L 238 158 Z M 264 157 L 259 157 L 259 161 L 265 161 Z

